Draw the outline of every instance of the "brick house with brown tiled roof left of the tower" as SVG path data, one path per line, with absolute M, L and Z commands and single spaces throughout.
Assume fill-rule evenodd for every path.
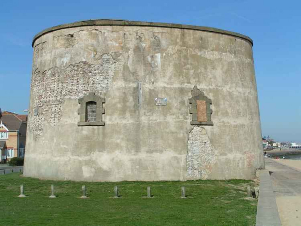
M 27 115 L 3 111 L 0 118 L 1 161 L 13 157 L 24 157 L 26 142 Z

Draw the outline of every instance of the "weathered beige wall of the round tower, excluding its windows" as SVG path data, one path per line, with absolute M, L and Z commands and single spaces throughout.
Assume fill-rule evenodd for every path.
M 249 38 L 92 20 L 45 30 L 33 48 L 25 176 L 251 179 L 264 168 Z M 213 125 L 190 124 L 194 86 L 212 100 Z M 89 93 L 105 99 L 104 126 L 78 126 Z

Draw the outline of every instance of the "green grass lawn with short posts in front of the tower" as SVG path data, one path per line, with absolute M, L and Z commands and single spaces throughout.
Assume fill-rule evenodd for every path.
M 18 198 L 20 184 L 24 194 Z M 57 198 L 48 198 L 50 184 Z M 89 199 L 80 199 L 86 185 Z M 121 198 L 114 196 L 118 185 Z M 0 176 L 0 225 L 255 225 L 249 180 L 72 182 Z M 155 198 L 146 196 L 151 186 Z M 181 199 L 181 186 L 186 199 Z

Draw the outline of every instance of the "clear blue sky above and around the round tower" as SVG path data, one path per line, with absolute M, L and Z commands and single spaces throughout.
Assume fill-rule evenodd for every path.
M 125 19 L 215 27 L 253 39 L 262 134 L 301 142 L 299 1 L 24 1 L 0 2 L 0 107 L 29 105 L 33 36 L 88 19 Z

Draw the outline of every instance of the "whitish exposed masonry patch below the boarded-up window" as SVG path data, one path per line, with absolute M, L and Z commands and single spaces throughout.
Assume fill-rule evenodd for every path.
M 189 133 L 187 149 L 187 177 L 193 180 L 207 179 L 216 162 L 216 153 L 205 128 L 193 127 Z

